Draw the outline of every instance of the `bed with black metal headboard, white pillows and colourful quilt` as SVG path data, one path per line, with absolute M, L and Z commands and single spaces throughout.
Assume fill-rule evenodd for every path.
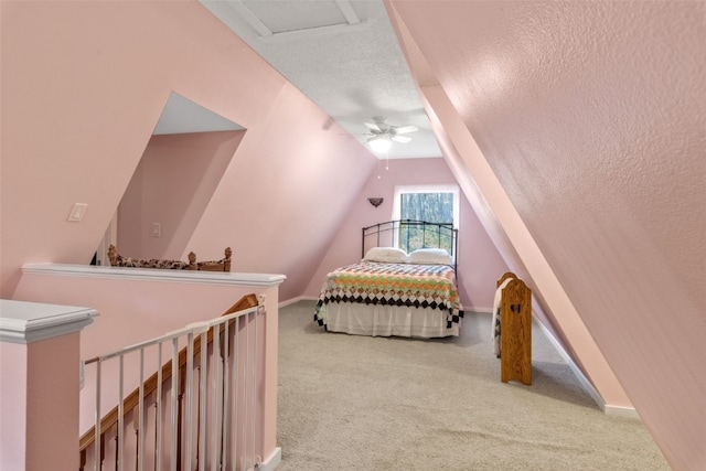
M 314 321 L 355 335 L 458 336 L 457 235 L 424 221 L 364 227 L 362 259 L 325 276 Z

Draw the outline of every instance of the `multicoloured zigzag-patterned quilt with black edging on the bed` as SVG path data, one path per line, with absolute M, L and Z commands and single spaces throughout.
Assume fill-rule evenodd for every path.
M 448 265 L 349 265 L 327 275 L 314 313 L 319 325 L 325 324 L 321 308 L 331 302 L 438 309 L 447 313 L 448 328 L 463 317 L 456 272 Z

